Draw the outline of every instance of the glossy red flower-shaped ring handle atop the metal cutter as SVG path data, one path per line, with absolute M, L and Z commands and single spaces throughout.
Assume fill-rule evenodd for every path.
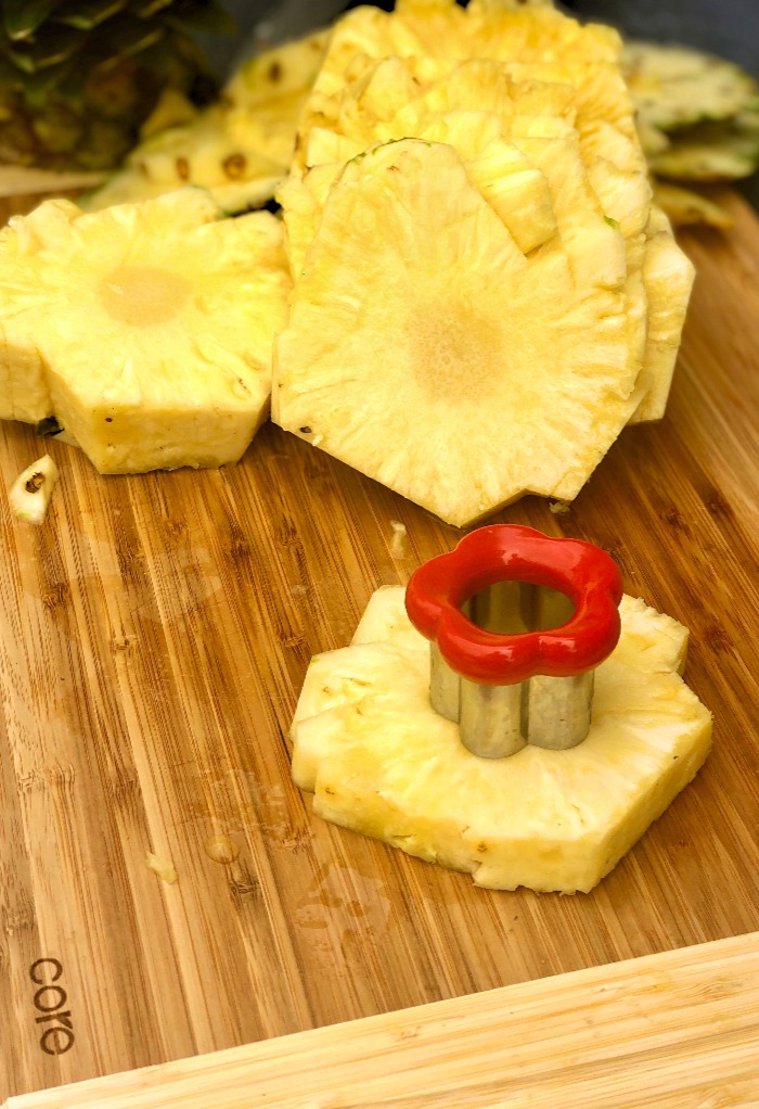
M 547 631 L 485 631 L 461 606 L 499 581 L 555 589 L 568 597 L 574 613 Z M 437 642 L 457 673 L 483 685 L 511 685 L 536 674 L 582 674 L 603 662 L 619 639 L 622 593 L 619 570 L 601 548 L 493 523 L 421 566 L 409 581 L 406 608 L 414 628 Z

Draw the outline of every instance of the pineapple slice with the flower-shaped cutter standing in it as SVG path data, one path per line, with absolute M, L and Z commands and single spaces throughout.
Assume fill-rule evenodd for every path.
M 403 597 L 400 587 L 375 593 L 360 642 L 309 667 L 293 776 L 315 793 L 314 812 L 479 886 L 588 892 L 708 754 L 710 714 L 679 676 L 687 630 L 625 597 L 584 743 L 484 760 L 430 708 L 429 644 Z

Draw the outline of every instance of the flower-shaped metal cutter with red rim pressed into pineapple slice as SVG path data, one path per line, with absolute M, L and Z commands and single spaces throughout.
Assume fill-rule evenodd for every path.
M 592 543 L 520 525 L 471 532 L 407 588 L 409 619 L 431 642 L 433 709 L 485 757 L 581 743 L 594 670 L 619 639 L 622 592 Z

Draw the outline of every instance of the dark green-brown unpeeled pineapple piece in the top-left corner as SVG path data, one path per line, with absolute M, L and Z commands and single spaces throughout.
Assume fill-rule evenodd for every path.
M 196 31 L 230 31 L 217 0 L 3 0 L 0 160 L 106 170 L 164 89 L 216 92 Z

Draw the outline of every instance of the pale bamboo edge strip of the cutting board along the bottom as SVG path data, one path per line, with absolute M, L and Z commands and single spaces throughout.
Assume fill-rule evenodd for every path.
M 6 1109 L 748 1109 L 759 933 L 11 1098 Z

